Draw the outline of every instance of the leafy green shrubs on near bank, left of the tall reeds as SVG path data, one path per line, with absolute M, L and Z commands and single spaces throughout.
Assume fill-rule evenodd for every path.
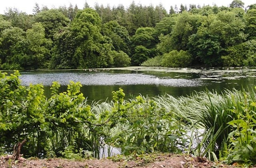
M 46 98 L 41 84 L 20 85 L 18 72 L 1 74 L 0 143 L 10 153 L 21 139 L 24 156 L 99 157 L 102 138 L 122 152 L 181 152 L 186 142 L 184 125 L 150 98 L 138 96 L 126 102 L 122 89 L 113 92 L 107 105 L 88 105 L 81 84 L 70 82 L 66 92 L 52 83 Z M 142 126 L 139 126 L 142 125 Z M 122 128 L 119 131 L 118 128 Z M 113 131 L 118 130 L 115 134 Z M 86 152 L 88 150 L 89 152 Z

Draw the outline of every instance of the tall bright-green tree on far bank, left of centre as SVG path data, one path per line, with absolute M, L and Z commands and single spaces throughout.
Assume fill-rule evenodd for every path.
M 112 63 L 111 54 L 102 53 L 110 48 L 108 45 L 102 45 L 105 39 L 100 30 L 101 19 L 95 10 L 86 8 L 78 12 L 71 24 L 76 41 L 74 57 L 79 60 L 78 68 L 106 67 Z

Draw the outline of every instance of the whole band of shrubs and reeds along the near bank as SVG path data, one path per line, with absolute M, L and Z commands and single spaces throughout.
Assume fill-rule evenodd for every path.
M 125 155 L 186 152 L 256 164 L 254 89 L 125 100 L 120 88 L 112 101 L 88 104 L 79 82 L 60 93 L 53 82 L 47 99 L 42 85 L 24 87 L 18 76 L 0 76 L 1 153 L 26 138 L 25 157 L 99 158 L 108 145 Z

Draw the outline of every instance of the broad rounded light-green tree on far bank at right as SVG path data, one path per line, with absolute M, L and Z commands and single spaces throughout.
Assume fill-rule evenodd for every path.
M 222 64 L 220 57 L 233 45 L 244 42 L 244 22 L 233 12 L 208 16 L 195 34 L 189 37 L 188 48 L 193 58 L 208 66 Z

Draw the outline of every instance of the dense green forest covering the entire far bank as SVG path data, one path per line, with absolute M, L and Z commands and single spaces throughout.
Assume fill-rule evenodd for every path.
M 256 66 L 256 4 L 35 4 L 0 15 L 0 69 Z

